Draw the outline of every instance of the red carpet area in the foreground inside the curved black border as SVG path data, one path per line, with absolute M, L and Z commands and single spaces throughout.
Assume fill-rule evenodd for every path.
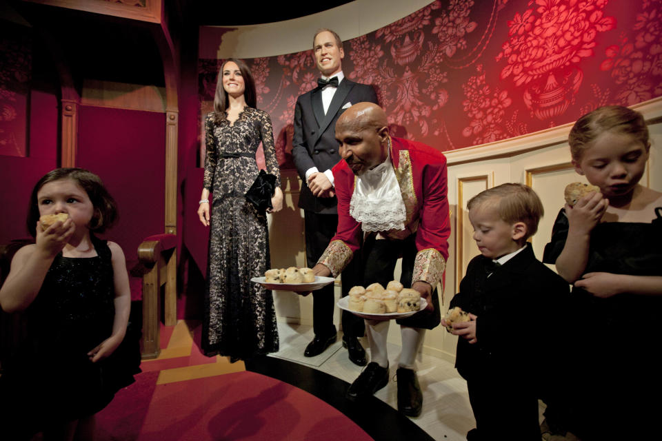
M 155 382 L 156 372 L 141 373 L 117 393 L 97 416 L 99 439 L 372 440 L 319 398 L 259 373 Z

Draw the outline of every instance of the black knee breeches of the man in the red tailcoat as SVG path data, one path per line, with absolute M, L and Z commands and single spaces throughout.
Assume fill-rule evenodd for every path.
M 398 258 L 402 258 L 400 283 L 405 288 L 412 287 L 414 260 L 416 260 L 416 234 L 403 240 L 377 239 L 377 234 L 370 234 L 363 244 L 363 286 L 379 283 L 386 287 L 393 280 L 393 271 Z M 344 274 L 344 273 L 343 273 Z M 421 311 L 408 318 L 397 320 L 399 325 L 414 328 L 432 329 L 441 322 L 439 294 L 432 287 L 432 305 L 434 311 Z

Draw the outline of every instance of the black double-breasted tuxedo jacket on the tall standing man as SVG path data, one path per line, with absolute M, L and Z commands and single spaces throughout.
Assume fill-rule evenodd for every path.
M 299 196 L 300 208 L 320 214 L 337 214 L 336 198 L 313 196 L 305 184 L 305 172 L 312 167 L 325 172 L 341 160 L 335 139 L 336 121 L 349 105 L 363 101 L 377 104 L 374 89 L 371 85 L 354 83 L 347 77 L 338 85 L 326 115 L 321 90 L 311 90 L 297 99 L 297 107 L 294 109 L 292 158 L 303 181 Z

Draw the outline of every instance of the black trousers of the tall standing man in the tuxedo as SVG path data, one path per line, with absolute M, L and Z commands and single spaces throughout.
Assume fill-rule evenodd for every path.
M 336 234 L 337 214 L 317 214 L 305 211 L 305 257 L 306 264 L 312 268 Z M 360 252 L 342 273 L 342 295 L 347 296 L 354 285 L 361 285 Z M 333 284 L 312 291 L 312 327 L 316 336 L 335 334 L 333 311 L 336 307 Z M 342 311 L 343 332 L 346 336 L 362 337 L 365 331 L 363 319 L 348 311 Z

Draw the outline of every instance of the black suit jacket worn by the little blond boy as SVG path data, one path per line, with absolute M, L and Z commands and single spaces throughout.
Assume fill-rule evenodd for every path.
M 521 382 L 548 383 L 553 373 L 543 367 L 563 351 L 563 330 L 570 326 L 563 320 L 570 285 L 536 259 L 530 244 L 487 277 L 491 262 L 474 257 L 450 302 L 478 317 L 477 342 L 458 340 L 455 366 L 467 380 L 503 369 Z

